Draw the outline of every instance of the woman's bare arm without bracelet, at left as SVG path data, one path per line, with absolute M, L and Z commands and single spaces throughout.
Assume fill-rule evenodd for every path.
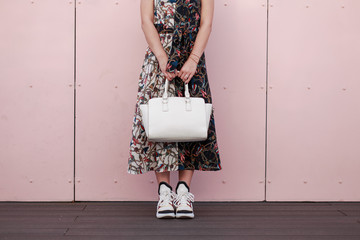
M 145 34 L 146 41 L 159 61 L 160 69 L 168 80 L 175 77 L 175 73 L 167 71 L 168 56 L 161 44 L 159 33 L 154 26 L 154 0 L 141 0 L 141 28 Z

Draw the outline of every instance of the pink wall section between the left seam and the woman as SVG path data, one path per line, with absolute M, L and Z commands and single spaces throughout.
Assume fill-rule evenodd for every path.
M 77 3 L 76 200 L 145 200 L 152 193 L 153 176 L 126 173 L 146 49 L 139 6 L 134 0 Z

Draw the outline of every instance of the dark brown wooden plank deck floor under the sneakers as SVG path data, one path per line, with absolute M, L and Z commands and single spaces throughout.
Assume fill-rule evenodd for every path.
M 0 239 L 360 239 L 360 202 L 195 202 L 157 219 L 157 202 L 0 202 Z

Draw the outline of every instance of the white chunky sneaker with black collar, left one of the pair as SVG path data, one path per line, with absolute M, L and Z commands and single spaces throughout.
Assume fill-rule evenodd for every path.
M 175 206 L 173 200 L 176 194 L 172 191 L 171 186 L 166 182 L 159 184 L 159 201 L 157 204 L 157 218 L 175 218 Z

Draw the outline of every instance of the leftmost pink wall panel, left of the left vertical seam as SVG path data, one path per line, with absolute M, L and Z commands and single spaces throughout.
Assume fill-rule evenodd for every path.
M 74 4 L 0 1 L 0 200 L 73 199 Z

